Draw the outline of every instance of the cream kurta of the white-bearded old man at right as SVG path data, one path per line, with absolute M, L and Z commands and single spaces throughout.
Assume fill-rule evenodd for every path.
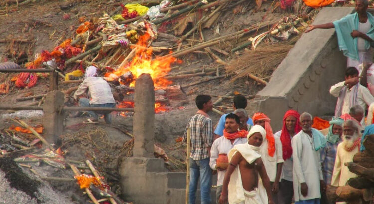
M 357 176 L 355 173 L 350 172 L 344 163 L 352 162 L 353 156 L 359 152 L 359 149 L 355 148 L 348 152 L 343 145 L 343 143 L 338 144 L 331 186 L 344 186 L 350 178 Z

